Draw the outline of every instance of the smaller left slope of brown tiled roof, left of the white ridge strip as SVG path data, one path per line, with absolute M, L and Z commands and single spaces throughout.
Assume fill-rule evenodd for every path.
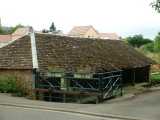
M 31 45 L 25 36 L 0 48 L 1 69 L 32 69 Z

